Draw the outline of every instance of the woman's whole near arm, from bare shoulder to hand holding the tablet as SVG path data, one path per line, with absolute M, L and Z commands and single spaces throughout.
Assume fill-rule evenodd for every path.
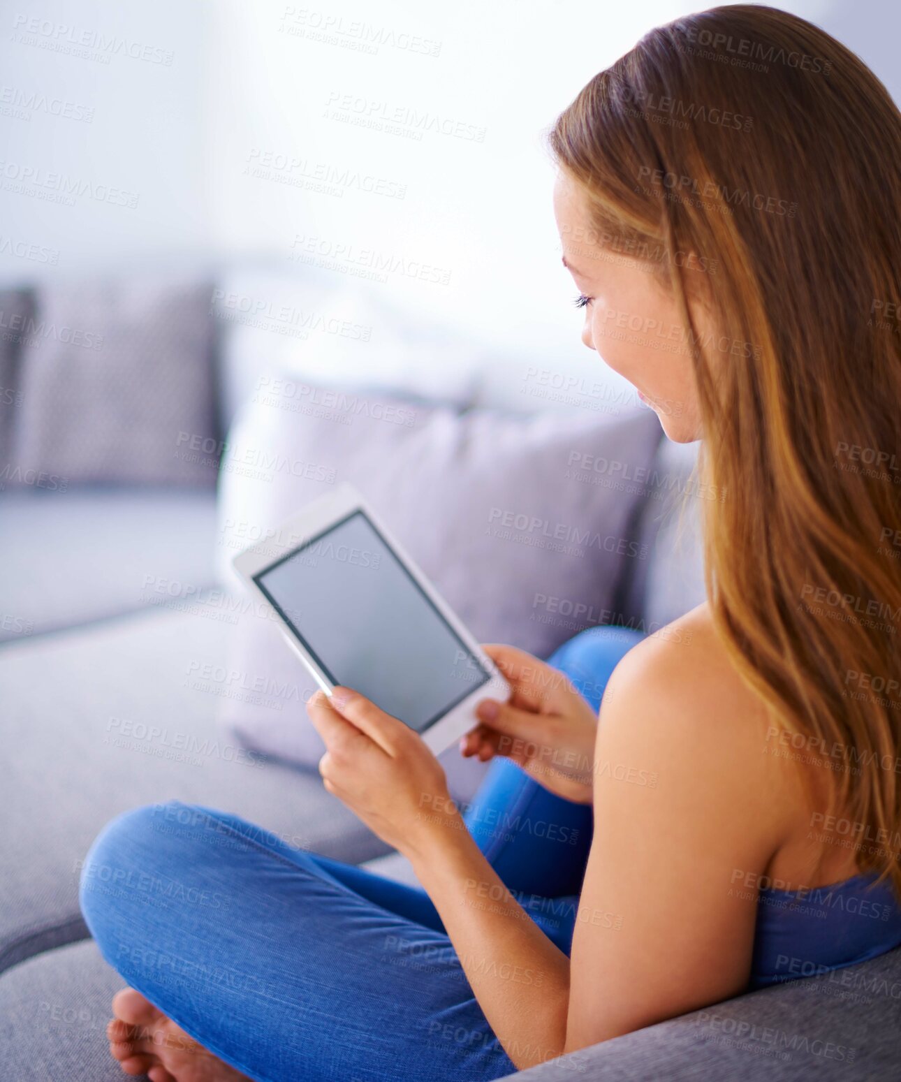
M 766 793 L 766 724 L 704 643 L 646 641 L 608 685 L 571 962 L 479 852 L 420 737 L 347 689 L 310 700 L 326 788 L 411 861 L 518 1068 L 746 984 L 756 892 L 737 876 L 765 871 L 783 805 Z

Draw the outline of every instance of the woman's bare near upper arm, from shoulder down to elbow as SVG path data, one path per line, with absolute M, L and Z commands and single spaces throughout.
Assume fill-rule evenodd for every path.
M 747 985 L 755 882 L 784 840 L 766 718 L 712 636 L 646 639 L 605 692 L 567 1052 Z M 618 914 L 613 926 L 588 919 Z

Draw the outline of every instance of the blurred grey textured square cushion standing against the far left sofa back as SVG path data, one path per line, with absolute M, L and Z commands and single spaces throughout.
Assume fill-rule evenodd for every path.
M 141 279 L 43 288 L 22 349 L 13 477 L 212 485 L 211 295 Z

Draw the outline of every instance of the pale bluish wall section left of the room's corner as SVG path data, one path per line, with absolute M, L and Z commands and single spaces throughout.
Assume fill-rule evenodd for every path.
M 3 281 L 200 253 L 213 240 L 199 63 L 211 13 L 178 0 L 3 5 Z

